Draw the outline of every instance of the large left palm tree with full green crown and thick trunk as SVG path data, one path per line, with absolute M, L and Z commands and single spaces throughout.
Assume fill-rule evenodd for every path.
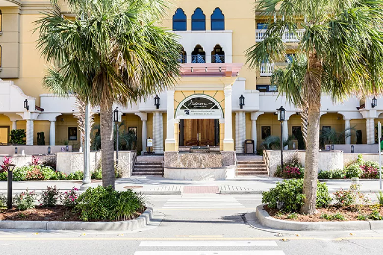
M 75 19 L 54 9 L 36 22 L 37 47 L 52 64 L 43 84 L 100 106 L 103 186 L 114 187 L 113 103 L 127 106 L 172 86 L 181 49 L 174 34 L 153 25 L 165 14 L 165 0 L 67 4 Z

